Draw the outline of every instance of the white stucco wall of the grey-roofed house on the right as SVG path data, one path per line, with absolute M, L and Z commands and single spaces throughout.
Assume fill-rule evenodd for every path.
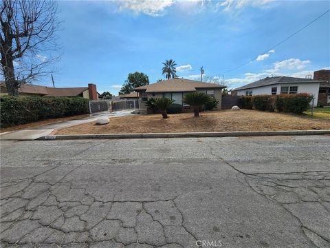
M 238 96 L 245 96 L 245 92 L 252 90 L 252 96 L 258 94 L 272 94 L 272 87 L 277 87 L 277 94 L 281 94 L 281 86 L 298 86 L 297 93 L 308 93 L 314 95 L 314 107 L 318 104 L 318 90 L 320 83 L 279 83 L 276 85 L 267 85 L 263 87 L 255 87 L 251 89 L 239 90 Z

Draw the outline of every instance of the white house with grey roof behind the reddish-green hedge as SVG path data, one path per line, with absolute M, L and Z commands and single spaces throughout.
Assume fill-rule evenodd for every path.
M 314 106 L 318 104 L 320 83 L 327 81 L 300 79 L 292 76 L 273 76 L 232 90 L 238 96 L 254 96 L 258 94 L 296 94 L 308 93 L 314 96 Z

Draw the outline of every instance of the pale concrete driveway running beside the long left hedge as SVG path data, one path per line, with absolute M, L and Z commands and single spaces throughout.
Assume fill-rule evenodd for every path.
M 88 123 L 91 121 L 96 121 L 98 118 L 101 117 L 120 117 L 120 116 L 128 116 L 133 115 L 131 114 L 132 110 L 120 110 L 116 112 L 99 112 L 93 114 L 93 116 L 82 118 L 79 120 L 71 120 L 71 121 L 61 121 L 58 123 L 51 123 L 47 125 L 41 125 L 39 127 L 31 127 L 28 130 L 19 130 L 13 132 L 5 132 L 0 134 L 0 140 L 17 140 L 17 141 L 30 141 L 34 140 L 43 136 L 47 136 L 51 134 L 54 130 L 60 129 L 63 127 L 71 127 L 74 125 L 80 125 L 83 123 Z

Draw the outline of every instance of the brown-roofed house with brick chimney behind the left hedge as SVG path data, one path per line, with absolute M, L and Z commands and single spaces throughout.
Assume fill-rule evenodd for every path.
M 8 94 L 5 83 L 0 83 L 0 94 Z M 78 96 L 85 99 L 98 100 L 96 85 L 89 83 L 88 87 L 47 87 L 23 83 L 19 87 L 19 94 L 23 96 Z

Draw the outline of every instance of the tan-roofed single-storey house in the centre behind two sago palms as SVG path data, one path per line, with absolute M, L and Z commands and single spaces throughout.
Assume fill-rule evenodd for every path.
M 146 109 L 146 101 L 151 98 L 166 97 L 172 99 L 177 104 L 181 104 L 184 109 L 189 109 L 189 105 L 182 103 L 184 95 L 189 92 L 204 92 L 213 96 L 218 103 L 218 109 L 221 110 L 221 92 L 226 86 L 216 83 L 202 83 L 188 79 L 168 79 L 150 85 L 136 87 L 133 90 L 139 96 L 140 109 Z

